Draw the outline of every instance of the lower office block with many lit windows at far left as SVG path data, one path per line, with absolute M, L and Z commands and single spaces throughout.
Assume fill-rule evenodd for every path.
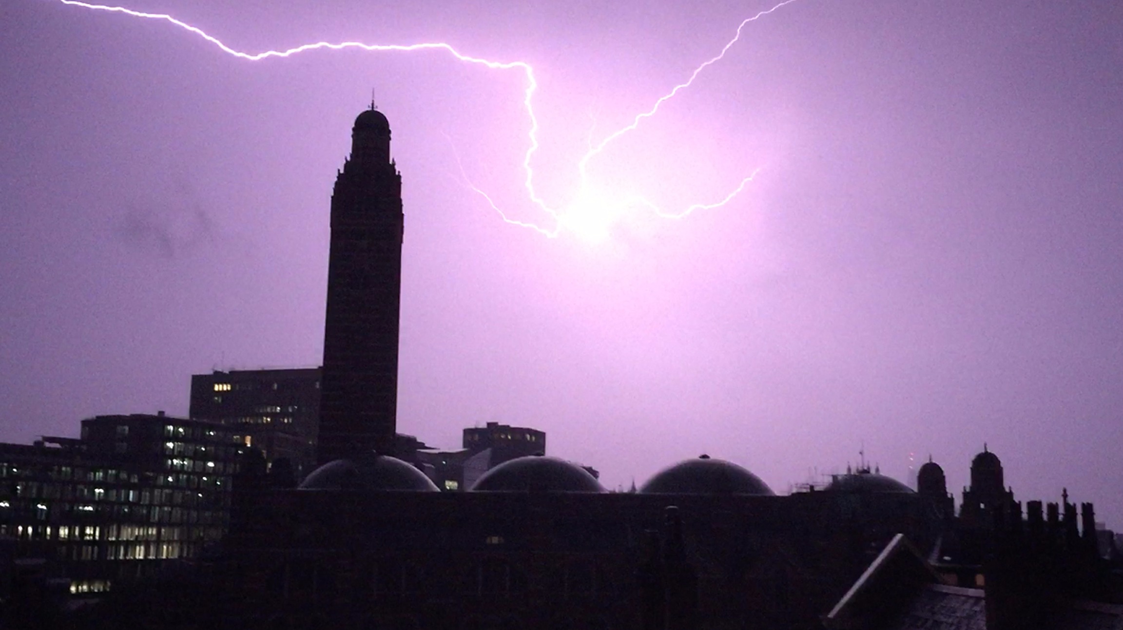
M 227 427 L 99 416 L 82 438 L 0 445 L 0 536 L 73 594 L 194 558 L 227 530 L 241 445 Z

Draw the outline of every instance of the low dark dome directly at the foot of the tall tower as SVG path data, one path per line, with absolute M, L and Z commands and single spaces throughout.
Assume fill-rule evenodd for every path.
M 300 490 L 439 492 L 424 473 L 387 455 L 336 459 L 312 471 Z

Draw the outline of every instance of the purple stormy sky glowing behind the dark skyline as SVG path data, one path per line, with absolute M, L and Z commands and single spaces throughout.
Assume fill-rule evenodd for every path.
M 136 0 L 240 51 L 448 42 L 530 63 L 538 191 L 772 3 Z M 402 172 L 399 429 L 497 420 L 609 486 L 707 453 L 779 492 L 864 442 L 957 493 L 1123 528 L 1123 4 L 798 0 L 590 164 L 590 243 L 527 201 L 524 75 L 447 53 L 246 62 L 175 26 L 0 4 L 0 439 L 185 414 L 192 373 L 318 365 L 328 202 L 377 89 Z M 455 152 L 454 152 L 455 147 Z

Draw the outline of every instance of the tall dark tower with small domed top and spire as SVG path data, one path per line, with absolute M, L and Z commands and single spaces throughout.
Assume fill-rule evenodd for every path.
M 402 177 L 390 121 L 371 109 L 331 194 L 328 305 L 317 459 L 393 455 L 402 272 Z

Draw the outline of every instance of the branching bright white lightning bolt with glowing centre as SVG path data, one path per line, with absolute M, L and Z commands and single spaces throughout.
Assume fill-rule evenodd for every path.
M 481 190 L 480 188 L 475 186 L 472 183 L 467 174 L 464 172 L 463 166 L 460 166 L 460 174 L 464 177 L 464 181 L 468 185 L 468 188 L 471 188 L 473 191 L 480 194 L 487 202 L 487 204 L 491 206 L 491 208 L 496 213 L 499 213 L 500 218 L 508 223 L 533 229 L 548 238 L 555 238 L 562 232 L 563 229 L 569 229 L 574 232 L 582 234 L 583 236 L 592 240 L 600 240 L 603 237 L 608 236 L 608 228 L 610 223 L 614 221 L 617 217 L 621 216 L 630 208 L 645 208 L 648 211 L 654 212 L 655 214 L 666 219 L 682 219 L 696 210 L 709 210 L 724 206 L 725 203 L 730 202 L 734 197 L 740 194 L 741 191 L 743 191 L 745 188 L 748 185 L 748 183 L 752 181 L 752 179 L 759 172 L 759 168 L 757 171 L 754 171 L 749 176 L 742 179 L 740 184 L 721 200 L 713 203 L 694 203 L 678 211 L 664 210 L 657 204 L 639 195 L 629 195 L 620 200 L 602 199 L 602 200 L 591 201 L 588 198 L 592 195 L 592 193 L 590 192 L 590 186 L 587 184 L 588 164 L 594 157 L 603 153 L 605 148 L 608 148 L 608 146 L 611 145 L 613 141 L 620 139 L 621 137 L 631 131 L 634 131 L 639 127 L 640 122 L 642 122 L 647 118 L 651 118 L 652 116 L 655 116 L 659 111 L 659 107 L 663 106 L 663 103 L 673 99 L 682 90 L 690 88 L 694 83 L 694 80 L 697 79 L 699 74 L 701 74 L 705 69 L 710 67 L 711 65 L 724 58 L 725 53 L 729 52 L 729 49 L 734 44 L 737 44 L 738 40 L 740 40 L 741 33 L 743 31 L 746 26 L 748 26 L 752 21 L 760 19 L 764 16 L 772 13 L 773 11 L 776 11 L 782 7 L 795 2 L 796 0 L 783 0 L 782 2 L 772 7 L 770 9 L 763 10 L 754 15 L 752 17 L 741 20 L 740 25 L 738 25 L 737 27 L 737 31 L 734 33 L 732 39 L 725 43 L 725 45 L 721 48 L 720 53 L 718 53 L 710 60 L 703 62 L 701 65 L 695 67 L 686 81 L 676 84 L 669 92 L 659 97 L 655 101 L 655 104 L 652 104 L 648 110 L 636 115 L 636 117 L 629 125 L 621 127 L 620 129 L 604 136 L 604 138 L 602 138 L 601 141 L 597 143 L 596 145 L 593 145 L 590 141 L 588 150 L 577 162 L 577 172 L 581 182 L 577 194 L 578 201 L 565 210 L 551 208 L 541 197 L 539 197 L 539 194 L 535 190 L 535 170 L 531 166 L 531 161 L 533 158 L 535 153 L 538 152 L 538 148 L 540 146 L 538 141 L 538 130 L 539 130 L 538 117 L 535 116 L 535 107 L 533 107 L 533 97 L 535 92 L 538 90 L 538 80 L 535 76 L 533 67 L 531 67 L 531 65 L 527 62 L 522 61 L 496 62 L 496 61 L 485 60 L 482 57 L 474 57 L 460 53 L 453 45 L 444 42 L 409 44 L 409 45 L 364 44 L 362 42 L 340 42 L 340 43 L 317 42 L 314 44 L 302 44 L 300 46 L 295 46 L 284 51 L 265 51 L 263 53 L 246 53 L 243 51 L 231 48 L 230 46 L 222 43 L 219 38 L 206 33 L 201 28 L 186 24 L 182 20 L 179 20 L 167 13 L 149 13 L 145 11 L 136 11 L 133 9 L 127 9 L 125 7 L 93 4 L 90 2 L 82 2 L 81 0 L 58 0 L 58 1 L 62 2 L 63 4 L 67 4 L 71 7 L 81 7 L 84 9 L 91 9 L 97 11 L 109 11 L 113 13 L 124 13 L 136 18 L 145 18 L 145 19 L 171 22 L 184 30 L 188 30 L 194 35 L 198 35 L 199 37 L 202 37 L 203 39 L 206 39 L 210 44 L 213 44 L 228 55 L 232 55 L 235 57 L 250 62 L 257 62 L 270 57 L 284 58 L 295 55 L 298 53 L 303 53 L 308 51 L 318 51 L 322 48 L 331 51 L 341 51 L 346 48 L 360 48 L 363 51 L 369 51 L 369 52 L 403 52 L 403 53 L 417 52 L 417 51 L 444 51 L 453 55 L 458 61 L 465 63 L 478 64 L 492 70 L 521 71 L 524 74 L 527 81 L 527 86 L 526 90 L 523 91 L 522 104 L 523 109 L 527 112 L 528 118 L 530 119 L 530 130 L 527 134 L 529 144 L 527 146 L 526 153 L 523 153 L 523 159 L 522 159 L 522 170 L 524 173 L 523 186 L 527 190 L 527 195 L 530 202 L 537 206 L 540 210 L 542 210 L 553 218 L 554 227 L 545 228 L 533 222 L 520 221 L 510 218 L 499 207 L 499 204 L 495 203 L 495 201 L 491 198 L 491 195 L 489 195 L 486 192 L 484 192 L 483 190 Z M 459 165 L 459 156 L 457 156 L 457 164 Z

